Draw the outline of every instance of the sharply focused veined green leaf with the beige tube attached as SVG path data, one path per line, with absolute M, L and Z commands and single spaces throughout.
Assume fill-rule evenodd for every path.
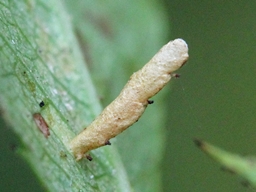
M 130 191 L 114 146 L 92 152 L 92 162 L 78 163 L 70 153 L 70 140 L 101 107 L 61 1 L 0 5 L 0 100 L 24 144 L 18 152 L 49 191 Z M 49 125 L 48 139 L 34 113 Z

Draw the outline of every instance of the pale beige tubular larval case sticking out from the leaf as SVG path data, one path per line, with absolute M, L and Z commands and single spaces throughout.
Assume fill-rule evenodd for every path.
M 135 123 L 145 111 L 148 99 L 171 79 L 171 73 L 188 59 L 182 39 L 170 41 L 139 71 L 134 73 L 120 95 L 78 136 L 71 141 L 77 160 L 88 151 L 106 145 L 109 139 Z

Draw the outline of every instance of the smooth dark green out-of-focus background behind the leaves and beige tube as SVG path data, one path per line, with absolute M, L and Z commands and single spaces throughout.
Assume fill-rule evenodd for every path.
M 170 93 L 163 96 L 164 113 L 168 116 L 163 122 L 166 137 L 161 162 L 163 191 L 250 191 L 239 184 L 239 178 L 222 172 L 192 141 L 201 138 L 229 151 L 255 154 L 256 2 L 173 0 L 158 3 L 163 4 L 161 14 L 168 23 L 166 29 L 170 29 L 163 32 L 168 36 L 166 42 L 177 37 L 185 39 L 190 55 L 187 64 L 178 71 L 181 78 L 173 81 L 167 87 Z M 137 19 L 137 22 L 145 20 Z M 140 28 L 136 30 L 139 33 Z M 144 46 L 140 46 L 143 49 Z M 116 82 L 116 90 L 109 97 L 113 99 L 122 86 L 118 84 L 122 83 Z M 110 98 L 103 100 L 103 105 L 108 100 Z M 156 99 L 154 105 L 157 103 Z M 150 129 L 148 127 L 149 132 Z M 1 121 L 0 189 L 40 191 L 36 176 L 13 154 L 13 146 L 18 143 L 15 138 Z M 126 159 L 132 160 L 132 157 Z

